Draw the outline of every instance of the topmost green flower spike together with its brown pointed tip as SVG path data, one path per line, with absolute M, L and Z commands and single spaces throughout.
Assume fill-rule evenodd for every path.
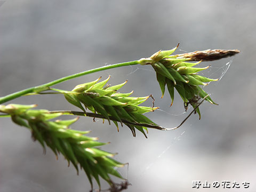
M 177 45 L 177 47 L 179 44 Z M 171 55 L 176 49 L 168 51 L 158 51 L 151 55 L 150 58 L 140 59 L 141 65 L 151 65 L 156 71 L 156 78 L 162 91 L 162 98 L 165 92 L 165 85 L 169 91 L 171 97 L 171 106 L 174 99 L 174 88 L 180 94 L 180 97 L 184 101 L 185 109 L 187 110 L 190 104 L 195 107 L 198 104 L 199 99 L 204 98 L 207 93 L 202 90 L 199 85 L 208 85 L 208 82 L 218 81 L 218 79 L 211 79 L 198 75 L 199 71 L 205 70 L 208 67 L 196 68 L 194 66 L 198 65 L 201 61 L 212 61 L 221 59 L 224 57 L 232 56 L 239 53 L 238 50 L 206 50 L 206 51 L 196 51 L 193 53 L 185 53 L 178 55 Z M 199 61 L 199 62 L 187 62 L 187 61 Z M 205 98 L 212 104 L 214 103 L 210 96 Z M 201 118 L 199 108 L 196 112 Z

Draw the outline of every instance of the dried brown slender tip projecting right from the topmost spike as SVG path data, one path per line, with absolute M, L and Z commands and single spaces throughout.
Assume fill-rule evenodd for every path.
M 195 51 L 191 53 L 179 54 L 178 57 L 191 58 L 190 61 L 214 61 L 226 57 L 231 57 L 237 53 L 239 50 L 205 50 L 205 51 Z

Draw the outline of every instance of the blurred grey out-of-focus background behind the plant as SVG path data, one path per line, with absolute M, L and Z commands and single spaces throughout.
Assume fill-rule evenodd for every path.
M 255 1 L 0 1 L 0 96 L 43 84 L 87 69 L 149 57 L 180 42 L 177 53 L 205 49 L 238 49 L 232 58 L 201 63 L 203 74 L 219 78 L 204 89 L 219 106 L 204 102 L 202 119 L 193 115 L 174 131 L 149 130 L 133 138 L 127 127 L 81 118 L 74 129 L 111 141 L 103 149 L 118 152 L 129 162 L 119 169 L 132 186 L 127 191 L 256 190 L 255 129 Z M 226 73 L 225 73 L 226 72 Z M 116 68 L 79 77 L 55 87 L 71 90 L 77 84 L 111 75 L 110 83 L 129 79 L 122 92 L 153 94 L 161 110 L 147 114 L 165 127 L 177 126 L 188 113 L 175 94 L 161 91 L 150 66 Z M 61 95 L 22 97 L 7 103 L 38 103 L 49 110 L 76 109 Z M 6 103 L 6 104 L 7 104 Z M 147 101 L 146 106 L 151 106 Z M 191 111 L 191 108 L 189 109 Z M 0 119 L 0 191 L 89 191 L 86 175 L 51 150 L 43 155 L 30 133 Z M 115 181 L 119 181 L 115 179 Z M 193 181 L 211 183 L 192 188 Z M 220 182 L 213 188 L 214 181 Z M 239 189 L 232 189 L 237 181 Z M 244 189 L 242 182 L 250 182 Z M 108 188 L 102 182 L 102 188 Z

